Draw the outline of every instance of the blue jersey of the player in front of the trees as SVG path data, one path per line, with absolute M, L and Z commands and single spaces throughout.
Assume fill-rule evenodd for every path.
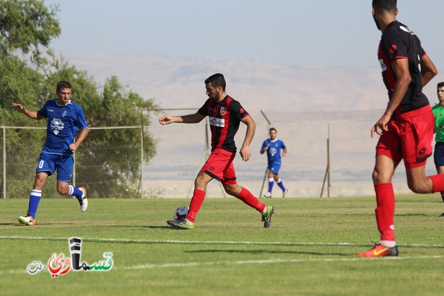
M 70 101 L 58 105 L 57 99 L 46 101 L 38 114 L 48 119 L 43 153 L 72 155 L 69 145 L 74 143 L 77 131 L 88 128 L 82 107 Z

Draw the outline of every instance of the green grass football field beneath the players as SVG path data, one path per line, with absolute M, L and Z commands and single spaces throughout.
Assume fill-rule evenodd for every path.
M 355 256 L 379 238 L 375 198 L 265 201 L 269 229 L 227 198 L 205 200 L 196 228 L 176 230 L 166 220 L 189 200 L 90 199 L 80 213 L 76 200 L 43 199 L 35 227 L 17 224 L 28 200 L 0 200 L 0 295 L 444 295 L 438 195 L 397 197 L 400 256 L 379 259 Z M 69 257 L 71 237 L 83 240 L 81 261 L 111 252 L 112 268 L 28 273 Z

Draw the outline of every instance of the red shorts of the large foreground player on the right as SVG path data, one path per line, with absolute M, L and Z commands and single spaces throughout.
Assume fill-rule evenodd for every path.
M 402 113 L 400 119 L 389 121 L 376 146 L 376 155 L 386 155 L 398 164 L 404 159 L 406 168 L 425 166 L 432 155 L 435 118 L 432 107 Z

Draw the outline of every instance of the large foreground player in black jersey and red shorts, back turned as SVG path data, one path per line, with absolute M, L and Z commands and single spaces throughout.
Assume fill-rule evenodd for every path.
M 415 193 L 444 190 L 443 175 L 425 175 L 427 157 L 432 155 L 434 115 L 422 87 L 438 71 L 409 27 L 396 20 L 396 0 L 373 0 L 373 18 L 382 31 L 378 58 L 388 90 L 388 105 L 373 126 L 379 141 L 373 171 L 377 207 L 376 221 L 381 241 L 357 254 L 363 257 L 398 256 L 395 242 L 395 193 L 391 178 L 404 159 L 409 189 Z

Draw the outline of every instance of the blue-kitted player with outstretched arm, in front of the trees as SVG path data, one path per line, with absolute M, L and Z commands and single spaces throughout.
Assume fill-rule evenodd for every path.
M 80 211 L 86 211 L 88 200 L 84 187 L 76 188 L 71 180 L 74 166 L 73 153 L 85 141 L 89 129 L 82 108 L 71 101 L 71 85 L 67 81 L 57 84 L 57 98 L 46 101 L 38 111 L 27 110 L 24 106 L 12 103 L 12 107 L 31 119 L 47 119 L 46 143 L 40 153 L 35 170 L 34 188 L 29 198 L 28 214 L 19 217 L 19 222 L 35 225 L 35 213 L 42 197 L 42 189 L 47 178 L 57 171 L 57 191 L 61 195 L 76 196 Z M 78 134 L 77 139 L 75 139 Z

